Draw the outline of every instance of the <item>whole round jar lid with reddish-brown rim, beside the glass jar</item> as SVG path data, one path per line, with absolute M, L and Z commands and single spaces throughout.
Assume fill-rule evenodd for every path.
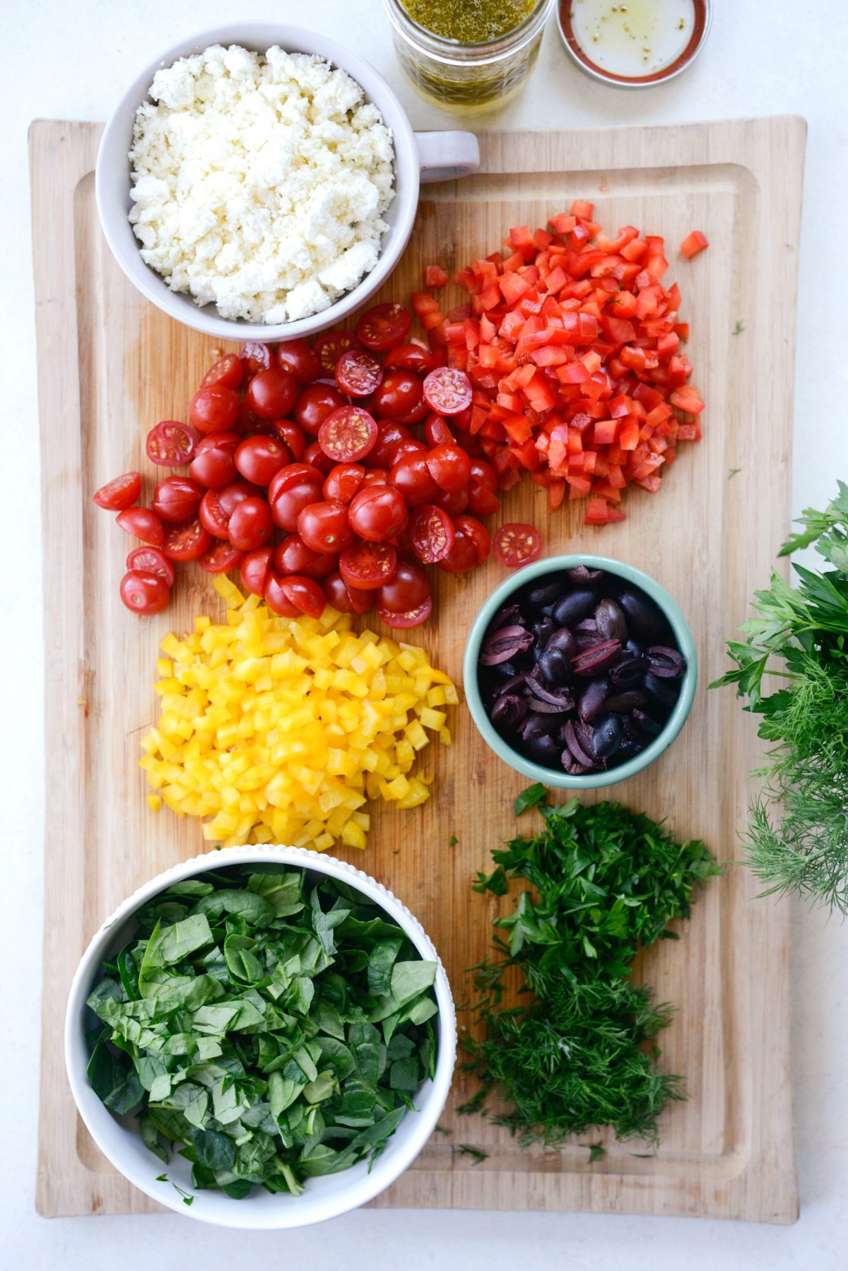
M 653 88 L 655 84 L 665 84 L 683 75 L 707 42 L 712 24 L 712 0 L 661 0 L 648 5 L 645 0 L 634 4 L 627 4 L 626 0 L 604 0 L 599 4 L 594 0 L 595 20 L 590 34 L 587 28 L 584 29 L 585 15 L 576 9 L 584 3 L 589 5 L 590 0 L 558 0 L 559 37 L 581 71 L 614 88 Z M 659 32 L 657 20 L 665 22 Z M 632 23 L 631 27 L 626 25 L 628 22 Z M 685 33 L 675 41 L 678 23 Z M 647 36 L 647 31 L 653 34 Z M 657 38 L 665 41 L 667 56 L 660 57 L 661 65 L 655 66 L 651 56 L 655 55 L 656 60 L 656 47 L 652 48 L 650 43 L 646 47 L 643 42 Z M 639 62 L 646 65 L 645 74 L 637 72 L 642 70 Z

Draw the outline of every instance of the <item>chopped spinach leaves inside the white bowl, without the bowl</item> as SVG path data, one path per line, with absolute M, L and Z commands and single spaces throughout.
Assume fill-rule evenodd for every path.
M 88 999 L 88 1075 L 197 1188 L 299 1195 L 374 1158 L 435 1070 L 436 963 L 345 883 L 206 873 L 139 910 Z

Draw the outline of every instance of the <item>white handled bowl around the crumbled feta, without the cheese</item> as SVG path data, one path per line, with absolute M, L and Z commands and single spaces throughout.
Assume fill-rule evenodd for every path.
M 361 84 L 366 100 L 374 102 L 392 130 L 395 196 L 384 214 L 389 229 L 383 235 L 379 261 L 359 286 L 329 309 L 311 318 L 278 325 L 221 318 L 215 305 L 201 309 L 188 294 L 172 291 L 164 278 L 141 259 L 141 245 L 127 220 L 132 206 L 128 151 L 132 145 L 136 111 L 147 98 L 158 70 L 170 66 L 179 57 L 200 53 L 210 44 L 240 44 L 259 53 L 278 44 L 287 52 L 318 53 L 333 65 L 341 66 Z M 334 41 L 313 31 L 278 23 L 231 23 L 181 39 L 136 75 L 103 132 L 97 156 L 95 194 L 100 225 L 116 261 L 139 291 L 170 318 L 219 339 L 294 339 L 313 336 L 341 323 L 385 282 L 412 233 L 421 180 L 462 177 L 473 172 L 478 163 L 479 151 L 473 133 L 413 132 L 403 107 L 383 76 L 378 75 L 364 58 Z

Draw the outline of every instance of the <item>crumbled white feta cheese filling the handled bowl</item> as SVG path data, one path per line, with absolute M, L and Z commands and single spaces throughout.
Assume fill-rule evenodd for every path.
M 214 44 L 156 71 L 150 97 L 130 221 L 173 291 L 278 324 L 322 313 L 374 268 L 394 149 L 346 71 Z

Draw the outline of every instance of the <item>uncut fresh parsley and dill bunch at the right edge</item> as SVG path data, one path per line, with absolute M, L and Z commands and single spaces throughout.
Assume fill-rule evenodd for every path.
M 770 742 L 754 775 L 744 840 L 745 860 L 765 883 L 764 895 L 797 891 L 848 913 L 848 486 L 826 511 L 807 508 L 804 530 L 779 555 L 810 547 L 831 567 L 817 573 L 793 566 L 797 588 L 772 571 L 768 591 L 754 597 L 745 641 L 728 641 L 736 663 L 711 688 L 735 684 L 745 710 L 760 716 Z M 763 685 L 778 676 L 774 691 Z

